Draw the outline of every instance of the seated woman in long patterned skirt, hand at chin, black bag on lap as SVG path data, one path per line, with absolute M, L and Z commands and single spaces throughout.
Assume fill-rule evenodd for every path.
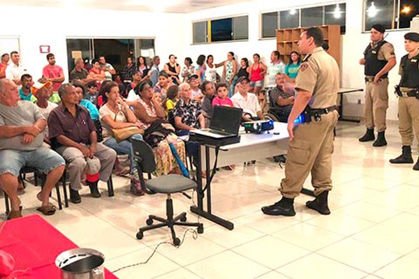
M 145 142 L 153 148 L 157 164 L 156 175 L 180 174 L 179 165 L 170 150 L 169 143 L 173 144 L 180 160 L 186 165 L 185 144 L 175 135 L 175 128 L 166 122 L 166 112 L 154 98 L 151 82 L 141 82 L 134 91 L 140 96 L 133 106 L 134 113 L 140 122 L 140 127 L 145 130 Z

